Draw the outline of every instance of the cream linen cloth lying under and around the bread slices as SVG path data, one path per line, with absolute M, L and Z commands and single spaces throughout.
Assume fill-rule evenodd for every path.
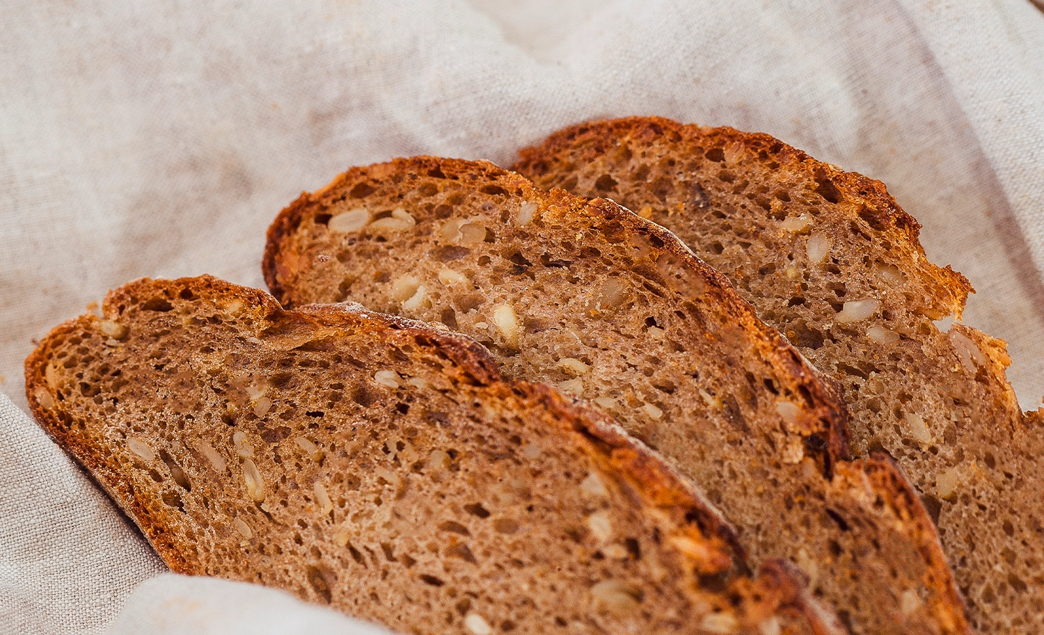
M 15 408 L 32 339 L 140 276 L 262 287 L 268 223 L 353 165 L 511 165 L 600 117 L 765 131 L 887 184 L 978 290 L 965 321 L 1007 340 L 1023 406 L 1044 394 L 1044 15 L 1026 0 L 40 0 L 6 5 L 0 33 L 0 633 L 103 632 L 162 570 Z M 145 587 L 117 632 L 184 632 L 197 584 Z M 317 609 L 298 606 L 251 632 L 299 632 Z

